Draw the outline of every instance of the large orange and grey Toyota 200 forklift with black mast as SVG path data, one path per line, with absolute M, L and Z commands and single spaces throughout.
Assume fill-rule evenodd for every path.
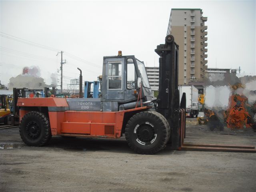
M 44 146 L 54 135 L 120 138 L 125 134 L 130 148 L 139 154 L 154 154 L 168 143 L 172 149 L 194 150 L 196 146 L 183 143 L 186 95 L 180 102 L 178 45 L 173 36 L 166 36 L 155 52 L 160 56 L 156 100 L 142 61 L 121 52 L 105 56 L 100 98 L 18 98 L 23 142 Z

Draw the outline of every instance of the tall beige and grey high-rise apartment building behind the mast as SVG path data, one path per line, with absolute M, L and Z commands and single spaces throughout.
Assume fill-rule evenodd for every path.
M 167 34 L 179 45 L 179 84 L 203 80 L 207 68 L 207 17 L 201 9 L 172 9 Z

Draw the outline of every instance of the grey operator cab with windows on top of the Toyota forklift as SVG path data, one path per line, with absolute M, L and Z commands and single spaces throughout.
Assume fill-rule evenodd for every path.
M 103 111 L 107 108 L 107 111 L 118 111 L 120 105 L 136 102 L 140 88 L 142 101 L 152 100 L 152 91 L 143 62 L 133 55 L 103 58 L 101 98 Z

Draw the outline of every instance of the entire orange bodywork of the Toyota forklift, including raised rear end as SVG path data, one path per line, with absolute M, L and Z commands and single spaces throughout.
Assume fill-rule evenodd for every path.
M 68 107 L 65 98 L 18 98 L 20 120 L 29 112 L 26 107 Z M 141 111 L 138 107 L 118 112 L 102 111 L 48 111 L 52 135 L 79 134 L 84 136 L 121 137 L 124 114 Z

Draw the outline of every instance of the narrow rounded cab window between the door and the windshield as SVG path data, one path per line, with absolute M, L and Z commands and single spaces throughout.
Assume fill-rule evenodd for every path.
M 137 88 L 138 76 L 132 58 L 127 59 L 127 89 Z

